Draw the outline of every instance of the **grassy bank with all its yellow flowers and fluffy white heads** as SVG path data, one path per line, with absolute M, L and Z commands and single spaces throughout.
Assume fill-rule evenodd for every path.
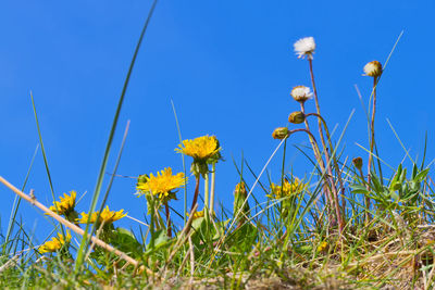
M 154 5 L 156 2 L 150 15 Z M 123 209 L 111 211 L 105 201 L 122 149 L 101 201 L 100 192 L 129 75 L 150 15 L 120 97 L 89 211 L 78 214 L 75 191 L 64 193 L 47 207 L 33 191 L 24 192 L 26 182 L 20 190 L 0 177 L 17 194 L 7 235 L 1 236 L 0 287 L 434 287 L 435 194 L 430 167 L 423 157 L 420 164 L 411 160 L 410 171 L 403 162 L 393 168 L 383 165 L 376 153 L 376 88 L 385 67 L 380 62 L 370 62 L 364 67 L 364 73 L 373 77 L 368 112 L 369 149 L 365 149 L 366 157 L 357 156 L 349 163 L 341 153 L 347 124 L 334 140 L 321 113 L 312 37 L 295 43 L 299 58 L 308 60 L 311 88 L 293 88 L 290 94 L 298 103 L 298 111 L 290 113 L 288 124 L 273 131 L 273 138 L 279 143 L 259 174 L 244 157 L 239 164 L 235 162 L 239 182 L 234 185 L 233 209 L 223 205 L 215 209 L 219 200 L 214 191 L 215 165 L 223 160 L 217 138 L 200 136 L 183 140 L 179 134 L 181 143 L 175 150 L 183 154 L 183 162 L 185 155 L 192 157 L 190 172 L 195 180 L 188 179 L 186 173 L 173 174 L 167 164 L 162 164 L 164 169 L 158 174 L 138 173 L 137 194 L 147 200 L 146 220 L 138 220 L 145 230 L 133 232 L 119 227 L 116 220 L 127 213 Z M 306 110 L 306 102 L 311 99 L 314 99 L 315 112 Z M 36 122 L 44 149 L 37 117 Z M 127 131 L 128 125 L 123 143 Z M 307 136 L 312 151 L 301 151 L 307 162 L 313 164 L 312 172 L 299 178 L 285 169 L 287 142 L 296 133 Z M 269 176 L 268 185 L 263 174 L 281 150 L 281 175 Z M 46 152 L 42 153 L 54 194 Z M 377 166 L 374 160 L 378 161 Z M 384 177 L 386 174 L 389 177 Z M 252 185 L 247 181 L 247 175 L 254 178 Z M 201 179 L 203 194 L 199 190 Z M 187 190 L 187 184 L 195 184 L 192 192 Z M 181 188 L 185 190 L 182 213 L 171 207 L 172 200 L 181 198 Z M 192 197 L 190 209 L 187 209 L 190 196 L 187 193 Z M 18 199 L 59 223 L 60 226 L 53 224 L 53 232 L 42 243 L 35 244 L 34 235 L 17 220 Z M 203 206 L 199 199 L 203 200 Z M 96 211 L 98 202 L 100 210 Z M 184 223 L 176 223 L 174 216 Z M 80 225 L 85 225 L 84 229 Z

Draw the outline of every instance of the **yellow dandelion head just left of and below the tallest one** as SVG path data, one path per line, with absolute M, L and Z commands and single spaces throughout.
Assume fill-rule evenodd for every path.
M 146 192 L 150 192 L 152 196 L 158 196 L 162 201 L 175 199 L 175 189 L 185 185 L 184 173 L 172 175 L 172 168 L 167 167 L 164 171 L 154 176 L 152 173 L 150 176 L 145 176 L 145 180 L 137 182 L 136 189 L 139 190 L 139 197 Z

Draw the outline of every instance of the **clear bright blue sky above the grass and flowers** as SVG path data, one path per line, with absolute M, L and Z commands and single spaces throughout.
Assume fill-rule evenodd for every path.
M 73 189 L 79 194 L 88 191 L 78 206 L 88 210 L 150 4 L 133 0 L 1 3 L 1 176 L 21 187 L 38 143 L 32 90 L 57 196 Z M 361 76 L 362 67 L 372 60 L 384 63 L 402 30 L 378 85 L 376 140 L 381 156 L 397 166 L 405 152 L 386 118 L 413 156 L 422 154 L 427 131 L 432 160 L 434 12 L 433 1 L 161 0 L 133 72 L 109 169 L 130 119 L 119 174 L 137 176 L 166 166 L 182 171 L 181 155 L 174 152 L 178 136 L 172 99 L 183 138 L 209 134 L 221 141 L 226 161 L 217 165 L 216 192 L 231 209 L 238 181 L 232 157 L 239 163 L 244 152 L 258 174 L 277 146 L 272 130 L 285 126 L 288 114 L 298 109 L 289 91 L 297 85 L 310 86 L 308 63 L 293 51 L 293 43 L 306 36 L 313 36 L 318 45 L 313 65 L 322 114 L 338 134 L 356 110 L 344 140 L 345 155 L 366 160 L 356 144 L 366 147 L 368 134 L 355 85 L 366 102 L 371 79 Z M 313 110 L 313 103 L 308 110 Z M 286 171 L 293 168 L 297 176 L 311 167 L 293 144 L 307 141 L 298 136 L 287 148 Z M 272 179 L 279 178 L 281 154 L 271 164 Z M 253 182 L 250 175 L 247 180 Z M 134 185 L 134 179 L 116 178 L 108 204 L 142 218 L 145 199 L 133 196 Z M 192 191 L 194 185 L 189 187 Z M 39 201 L 51 203 L 40 152 L 30 188 Z M 4 232 L 14 196 L 2 186 L 0 194 Z M 182 209 L 183 200 L 174 206 Z M 29 205 L 23 204 L 20 214 L 27 229 L 49 231 L 49 224 Z M 137 227 L 129 220 L 121 224 Z

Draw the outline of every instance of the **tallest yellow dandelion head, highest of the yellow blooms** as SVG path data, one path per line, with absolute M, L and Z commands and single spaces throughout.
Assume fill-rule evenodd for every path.
M 204 161 L 216 154 L 221 147 L 215 136 L 202 136 L 194 140 L 183 140 L 175 151 L 189 155 L 196 161 Z

